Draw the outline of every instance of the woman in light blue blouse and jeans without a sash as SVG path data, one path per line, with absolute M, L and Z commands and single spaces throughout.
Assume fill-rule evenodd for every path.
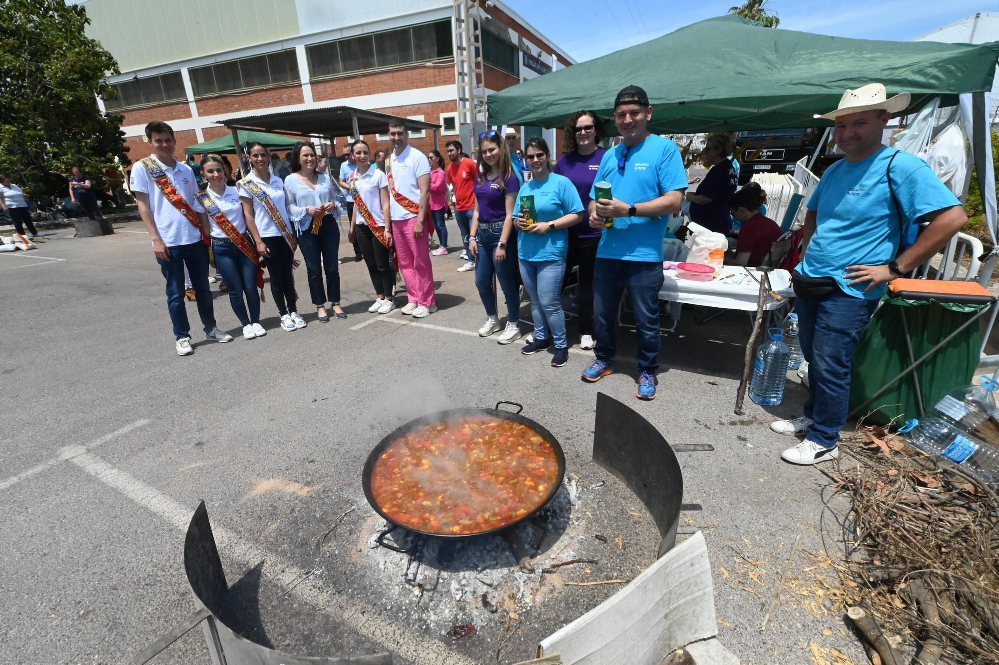
M 292 173 L 285 178 L 288 212 L 299 235 L 299 246 L 309 273 L 309 294 L 320 321 L 330 321 L 326 302 L 333 303 L 337 319 L 347 319 L 340 307 L 340 225 L 336 194 L 330 176 L 316 171 L 319 159 L 311 143 L 299 143 L 292 153 Z M 326 273 L 326 287 L 323 286 Z M 328 298 L 329 297 L 329 298 Z

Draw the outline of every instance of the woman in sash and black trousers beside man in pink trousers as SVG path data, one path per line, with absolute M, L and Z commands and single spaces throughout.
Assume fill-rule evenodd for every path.
M 361 256 L 375 288 L 375 302 L 368 312 L 389 314 L 396 309 L 392 298 L 396 271 L 391 263 L 393 241 L 389 179 L 371 163 L 371 148 L 366 141 L 351 144 L 351 154 L 358 168 L 347 181 L 354 199 L 348 238 L 352 243 L 357 241 L 361 248 Z

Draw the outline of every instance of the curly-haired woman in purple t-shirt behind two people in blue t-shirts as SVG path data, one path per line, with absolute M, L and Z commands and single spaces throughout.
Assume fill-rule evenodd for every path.
M 562 133 L 562 154 L 552 173 L 568 178 L 579 193 L 582 209 L 589 206 L 589 190 L 596 169 L 606 149 L 599 143 L 606 138 L 603 122 L 592 111 L 576 111 L 565 121 Z M 568 228 L 568 254 L 565 257 L 565 280 L 574 266 L 579 267 L 575 302 L 579 315 L 579 347 L 593 347 L 593 265 L 596 246 L 600 243 L 599 229 L 588 224 Z

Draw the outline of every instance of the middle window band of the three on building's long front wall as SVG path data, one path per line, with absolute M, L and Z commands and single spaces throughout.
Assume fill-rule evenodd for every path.
M 205 67 L 193 67 L 190 73 L 195 97 L 208 97 L 301 80 L 295 49 L 264 53 Z

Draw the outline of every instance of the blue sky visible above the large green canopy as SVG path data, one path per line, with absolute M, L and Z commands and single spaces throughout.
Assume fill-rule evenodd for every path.
M 735 0 L 503 0 L 578 62 L 721 16 Z M 770 0 L 780 27 L 857 39 L 908 41 L 999 0 Z

